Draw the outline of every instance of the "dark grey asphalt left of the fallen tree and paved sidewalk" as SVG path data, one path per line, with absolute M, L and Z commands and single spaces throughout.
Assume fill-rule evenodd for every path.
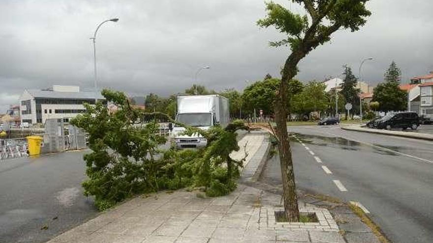
M 84 153 L 0 161 L 0 243 L 45 242 L 97 214 L 81 187 Z

